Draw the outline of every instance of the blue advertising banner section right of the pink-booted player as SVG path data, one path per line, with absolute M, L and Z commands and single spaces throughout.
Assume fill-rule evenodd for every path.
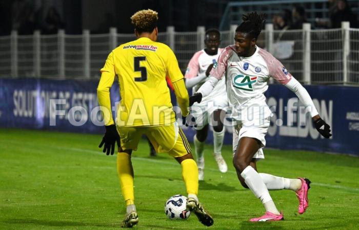
M 295 94 L 282 85 L 270 85 L 267 104 L 276 109 L 266 136 L 267 146 L 280 149 L 306 149 L 359 155 L 358 87 L 305 86 L 321 118 L 331 127 L 333 136 L 322 137 L 312 119 L 298 108 Z M 273 110 L 272 110 L 273 111 Z M 278 123 L 281 126 L 278 126 Z

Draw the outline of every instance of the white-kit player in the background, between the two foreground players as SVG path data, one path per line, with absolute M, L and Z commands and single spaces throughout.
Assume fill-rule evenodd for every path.
M 188 63 L 185 74 L 186 87 L 192 88 L 193 94 L 206 81 L 213 64 L 223 49 L 218 49 L 221 34 L 217 29 L 209 29 L 205 34 L 206 48 L 196 52 Z M 191 114 L 195 118 L 196 135 L 193 137 L 195 153 L 197 155 L 198 180 L 204 180 L 204 144 L 207 139 L 208 125 L 213 127 L 213 156 L 221 172 L 227 172 L 227 164 L 222 157 L 222 146 L 225 135 L 221 121 L 222 108 L 228 106 L 225 80 L 218 81 L 211 93 L 202 102 L 191 107 Z M 222 113 L 223 114 L 223 113 Z

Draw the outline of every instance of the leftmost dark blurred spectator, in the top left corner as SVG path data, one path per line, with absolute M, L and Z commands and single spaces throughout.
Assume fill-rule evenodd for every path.
M 18 34 L 32 34 L 35 29 L 34 7 L 29 0 L 15 0 L 11 11 L 12 30 Z

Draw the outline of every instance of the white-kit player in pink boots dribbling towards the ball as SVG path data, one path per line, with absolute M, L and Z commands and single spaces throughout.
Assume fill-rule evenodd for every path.
M 250 221 L 283 220 L 268 190 L 289 189 L 299 200 L 298 213 L 308 207 L 310 181 L 306 178 L 289 179 L 266 173 L 258 173 L 256 160 L 264 158 L 262 148 L 270 124 L 271 111 L 264 96 L 268 80 L 274 78 L 292 90 L 310 111 L 315 128 L 324 137 L 331 136 L 330 126 L 319 116 L 307 90 L 286 70 L 283 64 L 267 51 L 256 46 L 258 35 L 265 23 L 265 15 L 256 12 L 243 15 L 243 22 L 235 30 L 234 45 L 224 49 L 213 66 L 208 80 L 191 96 L 190 105 L 201 102 L 211 93 L 225 75 L 229 104 L 234 108 L 233 165 L 238 179 L 259 198 L 266 213 Z

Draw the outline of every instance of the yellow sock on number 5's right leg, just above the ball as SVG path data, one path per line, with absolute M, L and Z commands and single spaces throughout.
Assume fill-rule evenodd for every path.
M 188 194 L 198 194 L 198 168 L 193 159 L 185 159 L 181 162 L 182 177 L 185 181 Z

